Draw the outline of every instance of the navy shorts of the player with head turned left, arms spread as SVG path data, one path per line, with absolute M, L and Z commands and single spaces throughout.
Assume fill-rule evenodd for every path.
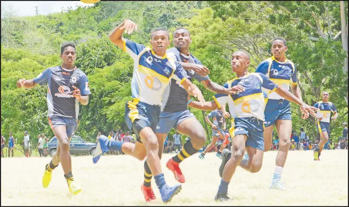
M 231 139 L 234 139 L 234 136 L 236 135 L 246 134 L 246 146 L 264 150 L 264 126 L 262 120 L 255 117 L 235 118 L 234 126 L 232 123 L 229 132 L 232 137 Z

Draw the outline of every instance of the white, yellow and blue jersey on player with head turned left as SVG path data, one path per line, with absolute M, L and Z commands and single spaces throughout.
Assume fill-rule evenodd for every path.
M 237 77 L 226 82 L 223 86 L 230 89 L 238 84 L 244 86 L 245 91 L 232 95 L 215 94 L 213 96 L 218 108 L 228 102 L 233 120 L 237 117 L 256 117 L 264 121 L 266 104 L 261 87 L 274 91 L 278 86 L 261 73 L 248 73 L 243 77 Z

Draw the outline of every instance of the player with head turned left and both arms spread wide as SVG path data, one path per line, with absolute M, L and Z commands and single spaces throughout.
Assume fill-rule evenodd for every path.
M 195 108 L 201 110 L 213 110 L 228 102 L 230 114 L 232 117 L 231 127 L 229 129 L 232 137 L 231 152 L 224 149 L 222 153 L 222 164 L 219 167 L 219 175 L 222 177 L 215 200 L 230 199 L 227 196 L 227 189 L 236 167 L 240 165 L 250 172 L 258 172 L 262 166 L 264 153 L 264 108 L 265 101 L 261 87 L 275 91 L 280 96 L 295 102 L 301 106 L 304 112 L 303 118 L 309 116 L 309 112 L 314 110 L 303 103 L 292 93 L 282 87 L 278 87 L 267 76 L 261 73 L 249 73 L 250 55 L 245 50 L 238 50 L 231 56 L 232 72 L 237 77 L 226 82 L 224 87 L 241 85 L 245 91 L 236 95 L 214 95 L 212 102 L 205 102 L 205 105 L 194 102 Z M 249 160 L 242 163 L 242 159 L 247 150 Z

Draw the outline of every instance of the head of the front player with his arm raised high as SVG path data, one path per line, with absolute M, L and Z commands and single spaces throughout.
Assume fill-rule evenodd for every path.
M 164 28 L 156 28 L 150 34 L 152 49 L 155 54 L 164 56 L 166 49 L 170 45 L 170 35 Z

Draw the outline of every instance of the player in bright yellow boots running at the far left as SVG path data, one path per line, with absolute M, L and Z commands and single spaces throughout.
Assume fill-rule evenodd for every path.
M 47 107 L 48 122 L 58 139 L 56 154 L 45 167 L 42 185 L 50 184 L 52 170 L 62 163 L 64 177 L 67 180 L 69 191 L 77 194 L 81 188 L 74 182 L 71 171 L 71 157 L 69 153 L 70 139 L 78 127 L 79 102 L 88 104 L 88 95 L 91 94 L 87 76 L 76 66 L 75 44 L 65 42 L 61 46 L 62 65 L 48 68 L 31 80 L 17 81 L 19 88 L 34 88 L 38 84 L 48 83 Z

